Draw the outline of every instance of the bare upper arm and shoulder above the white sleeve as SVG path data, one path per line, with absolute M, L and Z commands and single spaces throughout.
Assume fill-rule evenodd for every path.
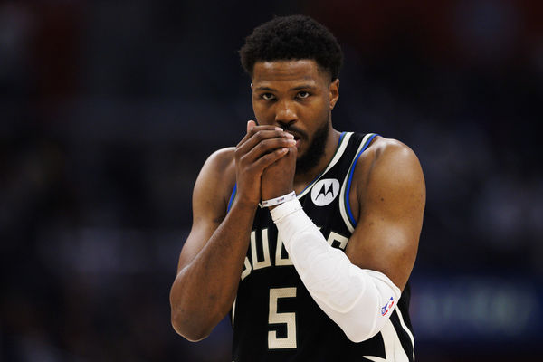
M 423 225 L 425 186 L 419 161 L 401 142 L 377 138 L 358 160 L 355 181 L 350 204 L 356 205 L 358 217 L 348 258 L 362 269 L 384 273 L 403 291 Z

